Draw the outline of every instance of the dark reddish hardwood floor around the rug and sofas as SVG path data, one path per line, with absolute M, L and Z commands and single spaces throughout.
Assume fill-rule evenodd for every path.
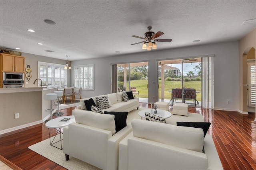
M 150 107 L 140 103 L 140 107 Z M 63 109 L 63 116 L 72 115 L 73 108 Z M 172 107 L 170 106 L 170 109 Z M 216 145 L 225 170 L 256 170 L 256 122 L 255 114 L 212 109 L 189 108 L 190 113 L 204 115 L 212 123 L 209 133 Z M 53 117 L 55 118 L 55 117 Z M 54 136 L 55 130 L 50 129 Z M 23 170 L 64 170 L 62 166 L 28 149 L 28 146 L 49 138 L 44 123 L 16 130 L 0 136 L 0 155 Z

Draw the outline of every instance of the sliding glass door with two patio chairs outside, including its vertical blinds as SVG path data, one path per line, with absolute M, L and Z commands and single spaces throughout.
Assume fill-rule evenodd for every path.
M 158 61 L 159 101 L 167 101 L 171 105 L 180 102 L 212 108 L 211 61 L 212 57 Z

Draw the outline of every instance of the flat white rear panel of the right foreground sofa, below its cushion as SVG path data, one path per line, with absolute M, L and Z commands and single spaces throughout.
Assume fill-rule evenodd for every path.
M 128 138 L 127 146 L 128 168 L 126 169 L 170 170 L 171 168 L 207 170 L 208 168 L 207 156 L 201 152 L 134 136 Z

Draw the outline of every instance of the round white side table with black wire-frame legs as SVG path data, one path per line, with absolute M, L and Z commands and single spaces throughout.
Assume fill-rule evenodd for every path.
M 68 121 L 66 122 L 61 122 L 62 119 L 65 119 L 65 118 L 70 118 Z M 55 118 L 55 119 L 52 119 L 48 122 L 46 122 L 45 126 L 48 128 L 48 131 L 49 131 L 49 138 L 51 137 L 50 136 L 50 128 L 55 128 L 57 130 L 53 140 L 51 141 L 51 138 L 50 138 L 50 145 L 51 146 L 54 146 L 53 144 L 57 143 L 57 142 L 60 142 L 60 148 L 58 148 L 57 146 L 54 146 L 58 149 L 63 149 L 62 147 L 62 140 L 63 140 L 63 136 L 61 134 L 63 134 L 60 130 L 60 128 L 63 128 L 63 127 L 66 127 L 68 126 L 70 123 L 75 123 L 76 120 L 75 120 L 75 117 L 74 116 L 63 116 L 63 117 L 58 117 L 58 118 Z M 60 133 L 60 140 L 58 141 L 54 141 L 54 139 L 56 138 L 58 132 Z M 61 138 L 62 136 L 62 138 Z

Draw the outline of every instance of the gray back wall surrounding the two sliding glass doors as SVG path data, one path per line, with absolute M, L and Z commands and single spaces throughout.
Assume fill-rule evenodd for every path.
M 82 91 L 82 97 L 92 97 L 111 93 L 111 66 L 110 63 L 129 63 L 139 61 L 148 62 L 148 101 L 154 103 L 157 95 L 157 60 L 174 59 L 199 55 L 214 54 L 214 109 L 238 111 L 239 104 L 239 65 L 238 42 L 224 42 L 208 45 L 197 45 L 168 49 L 163 51 L 145 51 L 130 55 L 119 55 L 96 59 L 72 61 L 72 67 L 76 65 L 94 64 L 94 91 Z M 72 69 L 74 77 L 74 69 Z M 72 84 L 74 78 L 72 78 Z M 155 99 L 153 99 L 155 97 Z M 227 100 L 230 104 L 227 104 Z

